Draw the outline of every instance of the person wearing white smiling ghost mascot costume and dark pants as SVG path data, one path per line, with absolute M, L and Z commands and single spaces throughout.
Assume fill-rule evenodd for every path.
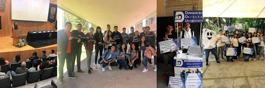
M 208 66 L 208 57 L 210 52 L 212 52 L 213 55 L 215 56 L 216 62 L 220 64 L 217 57 L 217 51 L 215 49 L 216 41 L 217 38 L 215 31 L 209 29 L 203 29 L 203 46 L 205 47 L 205 53 L 206 53 L 206 58 L 205 58 L 206 66 Z

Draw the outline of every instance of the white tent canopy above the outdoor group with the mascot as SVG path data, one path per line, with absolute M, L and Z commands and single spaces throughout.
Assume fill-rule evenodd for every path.
M 265 18 L 265 0 L 203 0 L 203 17 Z

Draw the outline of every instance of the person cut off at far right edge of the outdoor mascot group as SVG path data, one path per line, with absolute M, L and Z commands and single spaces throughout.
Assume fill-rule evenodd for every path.
M 262 60 L 265 60 L 264 59 L 264 44 L 265 44 L 265 36 L 263 36 L 263 33 L 260 32 L 259 33 L 259 38 L 261 40 L 261 43 L 259 43 L 259 59 L 261 59 L 261 55 L 263 55 L 263 58 Z

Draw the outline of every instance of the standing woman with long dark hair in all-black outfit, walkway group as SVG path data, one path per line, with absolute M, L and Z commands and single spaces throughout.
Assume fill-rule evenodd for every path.
M 95 68 L 97 68 L 97 57 L 98 57 L 98 54 L 100 54 L 100 56 L 102 56 L 103 45 L 101 45 L 101 43 L 104 42 L 100 26 L 97 26 L 97 31 L 94 34 L 94 38 L 96 40 L 96 44 L 95 44 Z

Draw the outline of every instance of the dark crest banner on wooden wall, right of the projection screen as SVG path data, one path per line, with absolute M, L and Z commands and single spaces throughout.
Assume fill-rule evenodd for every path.
M 56 14 L 57 14 L 57 5 L 50 4 L 49 6 L 49 14 L 48 14 L 48 22 L 54 23 L 56 21 Z

